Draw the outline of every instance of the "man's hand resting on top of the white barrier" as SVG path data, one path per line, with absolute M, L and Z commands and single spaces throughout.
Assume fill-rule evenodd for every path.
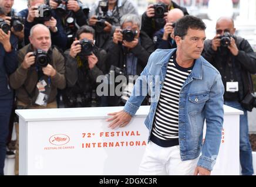
M 132 119 L 132 116 L 129 115 L 129 113 L 124 112 L 123 110 L 119 112 L 108 113 L 107 115 L 113 116 L 106 120 L 106 122 L 113 121 L 112 123 L 109 124 L 109 127 L 111 129 L 114 129 L 116 127 L 124 127 Z

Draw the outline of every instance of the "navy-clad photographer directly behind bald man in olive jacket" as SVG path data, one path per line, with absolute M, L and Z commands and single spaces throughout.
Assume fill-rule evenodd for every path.
M 28 0 L 28 9 L 19 12 L 19 16 L 25 17 L 25 45 L 29 44 L 29 33 L 31 28 L 42 23 L 49 27 L 52 44 L 65 50 L 67 36 L 61 25 L 61 20 L 53 10 L 46 6 L 46 0 Z

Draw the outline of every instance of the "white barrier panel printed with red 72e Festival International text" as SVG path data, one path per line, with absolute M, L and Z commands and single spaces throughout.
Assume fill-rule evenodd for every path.
M 149 135 L 141 106 L 132 122 L 109 129 L 107 113 L 122 107 L 16 110 L 20 175 L 137 175 Z M 239 114 L 225 106 L 213 175 L 239 175 Z

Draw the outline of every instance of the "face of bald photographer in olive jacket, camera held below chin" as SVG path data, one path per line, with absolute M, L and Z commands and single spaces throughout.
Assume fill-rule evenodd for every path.
M 32 36 L 29 36 L 29 41 L 35 50 L 41 49 L 48 51 L 52 45 L 50 32 L 46 27 L 36 27 L 33 30 Z

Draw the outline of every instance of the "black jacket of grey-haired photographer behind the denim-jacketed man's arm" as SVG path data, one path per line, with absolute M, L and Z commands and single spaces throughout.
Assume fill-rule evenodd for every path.
M 123 68 L 123 62 L 124 62 L 124 51 L 123 47 L 119 44 L 113 43 L 113 41 L 110 41 L 109 47 L 108 47 L 108 60 L 107 60 L 107 70 L 110 69 L 111 65 L 114 65 L 119 68 Z M 146 33 L 143 31 L 140 31 L 140 43 L 137 44 L 136 47 L 130 50 L 131 53 L 134 54 L 138 58 L 137 63 L 137 75 L 140 75 L 140 73 L 143 71 L 144 67 L 147 65 L 147 60 L 149 59 L 149 56 L 154 51 L 154 43 L 151 41 L 149 36 L 147 36 Z

